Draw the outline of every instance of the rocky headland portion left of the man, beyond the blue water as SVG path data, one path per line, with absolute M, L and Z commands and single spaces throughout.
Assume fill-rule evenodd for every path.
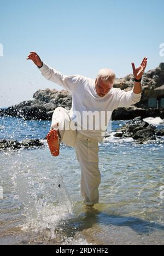
M 7 109 L 1 109 L 0 115 L 11 115 L 25 120 L 51 120 L 55 108 L 71 108 L 71 105 L 72 97 L 66 90 L 45 89 L 36 91 L 33 101 L 24 101 Z

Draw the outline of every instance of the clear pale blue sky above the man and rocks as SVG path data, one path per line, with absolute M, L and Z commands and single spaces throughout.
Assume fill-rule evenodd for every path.
M 0 107 L 61 89 L 26 60 L 30 51 L 64 74 L 91 78 L 103 67 L 124 77 L 144 56 L 147 70 L 159 66 L 163 9 L 163 0 L 0 0 Z

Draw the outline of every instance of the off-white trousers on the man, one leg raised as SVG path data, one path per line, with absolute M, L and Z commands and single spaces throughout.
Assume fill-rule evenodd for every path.
M 58 123 L 59 126 L 56 126 Z M 98 168 L 98 142 L 82 135 L 65 108 L 58 107 L 52 115 L 51 130 L 58 129 L 61 141 L 74 147 L 81 167 L 81 195 L 86 205 L 98 203 L 101 174 Z

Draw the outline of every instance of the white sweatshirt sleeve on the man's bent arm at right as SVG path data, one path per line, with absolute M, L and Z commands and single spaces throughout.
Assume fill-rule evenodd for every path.
M 131 91 L 124 91 L 121 89 L 118 89 L 117 94 L 117 107 L 130 107 L 133 104 L 136 104 L 140 101 L 140 98 L 142 96 L 142 92 L 140 94 L 134 94 L 133 90 Z

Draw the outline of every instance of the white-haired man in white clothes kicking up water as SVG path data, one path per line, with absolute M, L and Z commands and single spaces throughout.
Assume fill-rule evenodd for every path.
M 64 108 L 55 109 L 51 130 L 46 138 L 52 156 L 59 155 L 61 141 L 75 148 L 81 167 L 81 195 L 86 206 L 92 207 L 98 203 L 98 187 L 101 182 L 98 168 L 98 142 L 103 141 L 104 131 L 114 109 L 128 107 L 140 101 L 142 92 L 140 82 L 147 67 L 147 58 L 144 57 L 138 68 L 132 63 L 134 86 L 133 90 L 128 92 L 113 88 L 115 73 L 108 68 L 101 69 L 95 80 L 81 75 L 63 75 L 42 62 L 34 52 L 30 53 L 27 60 L 32 60 L 46 79 L 61 85 L 72 94 L 71 111 L 68 113 Z M 91 113 L 95 116 L 95 120 L 93 115 L 91 117 Z M 82 124 L 81 117 L 83 117 Z

